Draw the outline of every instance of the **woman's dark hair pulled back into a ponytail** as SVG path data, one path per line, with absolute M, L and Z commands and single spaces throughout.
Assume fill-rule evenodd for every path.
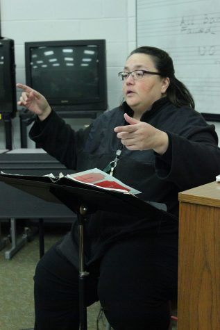
M 167 88 L 167 97 L 175 106 L 195 107 L 192 94 L 175 76 L 173 60 L 166 51 L 155 47 L 139 47 L 132 51 L 128 58 L 135 53 L 144 53 L 151 56 L 155 68 L 158 69 L 161 76 L 169 77 L 170 83 Z

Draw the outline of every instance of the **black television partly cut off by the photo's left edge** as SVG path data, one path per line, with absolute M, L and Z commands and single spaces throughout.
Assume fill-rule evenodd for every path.
M 15 86 L 14 40 L 0 38 L 0 115 L 15 117 L 17 112 Z

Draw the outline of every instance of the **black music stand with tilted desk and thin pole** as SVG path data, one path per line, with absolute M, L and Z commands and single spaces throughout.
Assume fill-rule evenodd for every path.
M 137 213 L 144 212 L 148 215 L 151 214 L 153 218 L 158 217 L 158 213 L 165 212 L 146 201 L 142 201 L 135 195 L 116 190 L 105 190 L 93 185 L 71 181 L 65 177 L 51 181 L 47 176 L 0 174 L 0 181 L 46 201 L 65 204 L 74 214 L 77 214 L 79 235 L 79 316 L 81 330 L 87 330 L 85 277 L 89 273 L 85 271 L 84 262 L 85 217 L 98 210 L 128 215 L 137 215 Z

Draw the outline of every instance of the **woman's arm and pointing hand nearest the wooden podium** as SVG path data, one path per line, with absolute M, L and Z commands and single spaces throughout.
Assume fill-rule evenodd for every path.
M 220 149 L 213 125 L 199 117 L 180 124 L 179 133 L 161 131 L 151 124 L 124 115 L 128 125 L 115 128 L 117 138 L 129 150 L 155 151 L 155 172 L 185 190 L 215 180 L 220 174 Z M 196 118 L 196 119 L 195 119 Z

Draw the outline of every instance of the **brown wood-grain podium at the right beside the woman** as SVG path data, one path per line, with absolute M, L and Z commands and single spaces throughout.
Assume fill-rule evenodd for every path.
M 179 201 L 178 330 L 220 330 L 220 183 Z

